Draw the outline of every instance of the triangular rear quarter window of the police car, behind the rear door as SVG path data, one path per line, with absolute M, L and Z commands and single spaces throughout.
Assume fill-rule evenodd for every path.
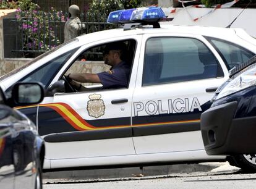
M 206 38 L 218 51 L 226 66 L 228 67 L 228 70 L 233 69 L 233 67 L 239 64 L 242 64 L 255 55 L 254 52 L 251 52 L 245 48 L 242 48 L 242 46 L 231 43 L 229 41 L 210 37 Z

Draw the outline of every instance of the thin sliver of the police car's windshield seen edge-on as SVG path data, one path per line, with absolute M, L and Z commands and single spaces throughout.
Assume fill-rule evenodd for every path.
M 62 43 L 59 46 L 57 46 L 56 48 L 51 49 L 50 51 L 47 51 L 43 54 L 41 54 L 40 56 L 36 57 L 35 59 L 33 59 L 32 61 L 28 62 L 27 64 L 19 67 L 18 69 L 12 70 L 11 72 L 7 73 L 6 75 L 3 75 L 2 77 L 0 77 L 0 82 L 2 80 L 5 80 L 6 78 L 10 77 L 11 75 L 14 75 L 15 73 L 20 72 L 21 70 L 27 68 L 28 66 L 34 64 L 35 62 L 39 61 L 40 59 L 43 59 L 44 57 L 48 56 L 49 54 L 58 51 L 59 49 L 63 48 L 64 46 L 66 47 L 67 45 L 74 45 L 75 43 L 77 43 L 79 40 L 77 38 L 74 38 L 73 40 L 67 41 L 66 43 Z

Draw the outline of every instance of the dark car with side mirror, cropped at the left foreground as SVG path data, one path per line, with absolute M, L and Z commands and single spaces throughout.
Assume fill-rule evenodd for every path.
M 44 141 L 24 114 L 12 107 L 40 103 L 39 83 L 17 83 L 11 98 L 0 88 L 0 188 L 42 188 Z

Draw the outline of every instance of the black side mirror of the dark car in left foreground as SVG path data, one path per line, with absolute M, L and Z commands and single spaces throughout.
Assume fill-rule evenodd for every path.
M 12 104 L 26 106 L 43 101 L 45 90 L 40 83 L 15 83 L 12 88 Z

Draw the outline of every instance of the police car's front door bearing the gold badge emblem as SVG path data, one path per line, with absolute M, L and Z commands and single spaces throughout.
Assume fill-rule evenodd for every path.
M 92 166 L 111 162 L 100 162 L 101 158 L 89 161 L 90 157 L 135 154 L 130 112 L 135 86 L 132 78 L 137 73 L 141 38 L 142 36 L 127 38 L 136 41 L 137 47 L 128 88 L 55 94 L 46 97 L 40 104 L 38 130 L 40 135 L 45 136 L 45 157 L 51 159 L 51 168 L 62 167 L 61 159 L 69 161 L 66 167 L 74 166 L 77 161 L 80 166 Z M 113 39 L 98 41 L 92 46 L 112 41 Z M 82 49 L 81 53 L 92 46 Z M 87 161 L 82 158 L 87 158 Z

